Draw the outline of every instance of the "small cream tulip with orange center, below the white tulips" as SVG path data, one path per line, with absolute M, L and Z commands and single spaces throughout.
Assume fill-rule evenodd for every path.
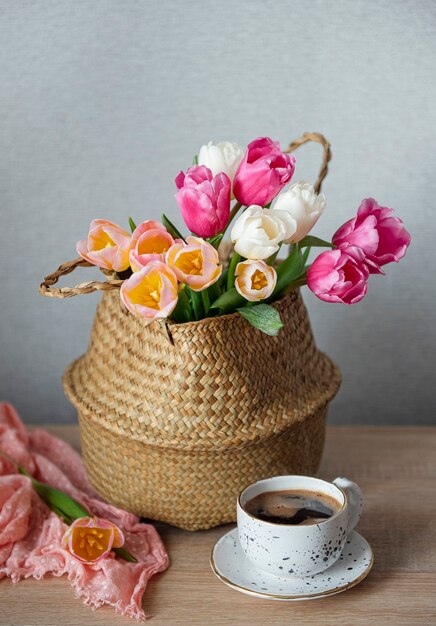
M 243 261 L 236 266 L 236 291 L 250 302 L 269 298 L 276 283 L 276 271 L 265 261 Z

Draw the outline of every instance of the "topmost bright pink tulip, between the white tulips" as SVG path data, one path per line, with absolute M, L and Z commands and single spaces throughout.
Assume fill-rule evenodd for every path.
M 295 157 L 284 154 L 278 141 L 259 137 L 248 144 L 233 181 L 235 198 L 243 205 L 265 206 L 288 183 Z

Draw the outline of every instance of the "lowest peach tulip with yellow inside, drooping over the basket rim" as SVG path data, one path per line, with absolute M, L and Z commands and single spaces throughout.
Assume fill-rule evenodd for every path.
M 124 281 L 120 295 L 135 317 L 150 320 L 168 317 L 177 304 L 177 278 L 162 261 L 151 261 Z

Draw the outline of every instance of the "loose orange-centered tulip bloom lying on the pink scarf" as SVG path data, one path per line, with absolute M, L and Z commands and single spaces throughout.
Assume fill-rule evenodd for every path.
M 124 535 L 115 524 L 98 517 L 80 517 L 67 529 L 63 547 L 81 563 L 92 565 L 109 554 L 112 548 L 121 548 Z

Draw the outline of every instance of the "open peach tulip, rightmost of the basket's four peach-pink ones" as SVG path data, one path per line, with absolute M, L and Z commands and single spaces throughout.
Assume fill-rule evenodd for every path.
M 187 237 L 186 242 L 171 246 L 166 262 L 181 283 L 186 283 L 193 291 L 203 291 L 221 276 L 218 252 L 199 237 Z

